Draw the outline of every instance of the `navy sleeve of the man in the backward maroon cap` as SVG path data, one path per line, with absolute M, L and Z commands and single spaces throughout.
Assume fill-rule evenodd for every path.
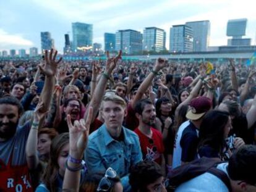
M 182 162 L 190 162 L 197 159 L 198 130 L 192 122 L 182 132 L 180 144 Z

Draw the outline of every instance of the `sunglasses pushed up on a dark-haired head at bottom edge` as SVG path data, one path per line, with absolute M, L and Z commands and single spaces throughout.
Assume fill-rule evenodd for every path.
M 116 171 L 111 167 L 109 167 L 106 170 L 104 177 L 101 178 L 97 191 L 108 191 L 111 188 L 111 186 L 113 186 L 113 182 L 111 182 L 111 180 L 109 180 L 108 178 L 115 178 L 115 177 L 116 177 Z

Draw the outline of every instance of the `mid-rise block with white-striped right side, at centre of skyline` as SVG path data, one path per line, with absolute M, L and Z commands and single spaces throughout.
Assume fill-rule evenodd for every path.
M 156 27 L 147 27 L 143 30 L 142 49 L 145 51 L 163 51 L 165 47 L 164 30 Z

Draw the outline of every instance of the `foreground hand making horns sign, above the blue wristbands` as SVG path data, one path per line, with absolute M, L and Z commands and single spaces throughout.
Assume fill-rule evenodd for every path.
M 83 151 L 87 147 L 90 124 L 92 121 L 92 107 L 90 107 L 87 120 L 75 120 L 71 122 L 70 115 L 67 115 L 67 125 L 69 126 L 69 151 L 70 156 L 75 159 L 82 159 Z

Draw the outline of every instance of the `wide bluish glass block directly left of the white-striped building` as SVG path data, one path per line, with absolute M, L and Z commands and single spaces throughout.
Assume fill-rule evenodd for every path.
M 140 54 L 142 51 L 142 33 L 135 30 L 117 31 L 116 50 L 122 50 L 125 54 Z

